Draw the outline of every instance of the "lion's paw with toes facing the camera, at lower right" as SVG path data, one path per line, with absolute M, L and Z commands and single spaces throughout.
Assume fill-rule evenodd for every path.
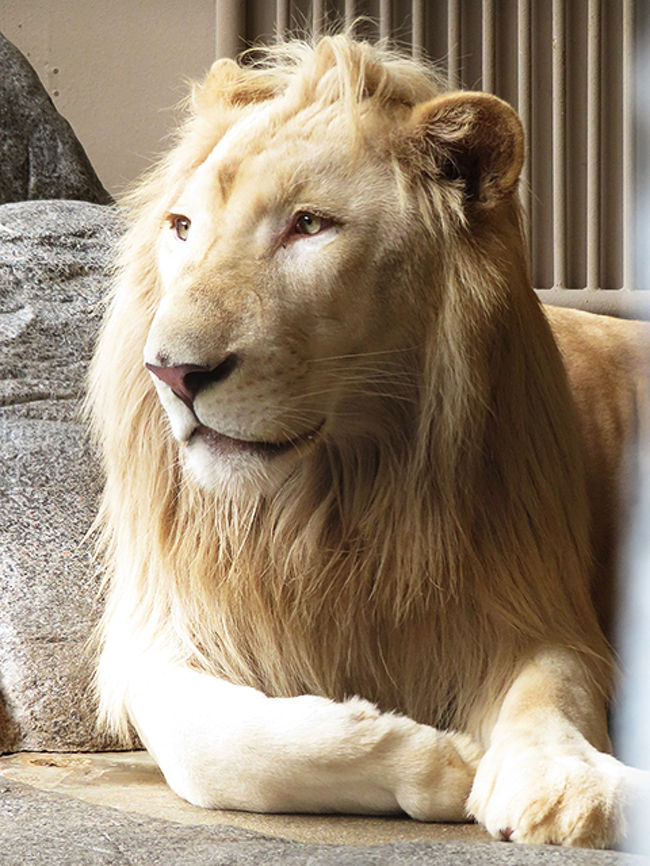
M 468 810 L 497 839 L 608 848 L 624 835 L 630 770 L 587 743 L 491 747 Z

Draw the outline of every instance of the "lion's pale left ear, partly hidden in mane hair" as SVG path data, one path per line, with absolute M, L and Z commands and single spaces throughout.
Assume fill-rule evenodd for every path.
M 192 87 L 192 109 L 196 114 L 217 102 L 248 105 L 276 96 L 278 77 L 263 69 L 240 66 L 228 57 L 216 60 L 205 79 Z

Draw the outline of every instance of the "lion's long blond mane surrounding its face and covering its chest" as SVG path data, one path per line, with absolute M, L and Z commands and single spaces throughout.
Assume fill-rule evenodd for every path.
M 409 137 L 414 106 L 442 92 L 418 62 L 337 36 L 224 69 L 195 88 L 176 146 L 127 202 L 92 364 L 106 474 L 103 721 L 126 735 L 127 633 L 268 695 L 359 694 L 479 739 L 532 647 L 575 648 L 605 689 L 576 421 L 530 288 L 515 185 L 468 209 L 435 148 Z M 163 214 L 260 100 L 334 107 L 358 125 L 359 147 L 374 124 L 400 202 L 378 230 L 397 238 L 405 337 L 356 359 L 347 427 L 343 413 L 279 487 L 242 494 L 202 489 L 183 469 L 142 355 Z M 360 296 L 373 288 L 363 279 Z

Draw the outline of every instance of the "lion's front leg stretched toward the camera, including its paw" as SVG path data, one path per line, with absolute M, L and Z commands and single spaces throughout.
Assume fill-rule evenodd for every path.
M 505 696 L 468 802 L 496 838 L 611 847 L 646 784 L 609 747 L 605 702 L 576 656 L 544 650 Z

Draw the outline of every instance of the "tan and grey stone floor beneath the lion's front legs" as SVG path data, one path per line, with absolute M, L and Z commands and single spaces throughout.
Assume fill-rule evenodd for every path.
M 198 809 L 172 793 L 146 752 L 0 758 L 0 866 L 646 862 L 494 842 L 473 824 Z

